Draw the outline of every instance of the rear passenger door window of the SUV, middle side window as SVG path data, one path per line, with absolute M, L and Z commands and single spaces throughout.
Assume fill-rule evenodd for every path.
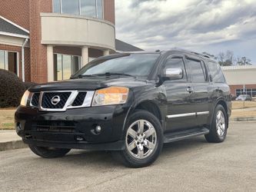
M 191 74 L 191 81 L 195 83 L 203 83 L 206 81 L 206 73 L 204 64 L 201 61 L 196 61 L 190 58 L 187 58 L 188 68 Z

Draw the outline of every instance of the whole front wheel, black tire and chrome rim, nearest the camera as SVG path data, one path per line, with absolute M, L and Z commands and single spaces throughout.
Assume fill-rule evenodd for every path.
M 135 111 L 125 127 L 125 150 L 112 151 L 113 156 L 127 167 L 146 167 L 161 153 L 163 133 L 155 115 L 148 111 Z

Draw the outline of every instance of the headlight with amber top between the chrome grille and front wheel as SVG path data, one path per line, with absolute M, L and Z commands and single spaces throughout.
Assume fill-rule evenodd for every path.
M 102 88 L 95 91 L 92 106 L 125 104 L 128 98 L 129 89 L 123 87 Z

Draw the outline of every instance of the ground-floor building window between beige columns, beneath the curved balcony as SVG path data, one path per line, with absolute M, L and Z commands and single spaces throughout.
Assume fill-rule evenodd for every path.
M 70 78 L 81 68 L 81 57 L 76 55 L 54 55 L 55 81 L 62 81 Z

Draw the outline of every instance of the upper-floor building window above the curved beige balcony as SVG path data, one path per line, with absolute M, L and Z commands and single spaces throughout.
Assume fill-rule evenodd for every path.
M 53 12 L 103 19 L 103 0 L 53 0 Z

